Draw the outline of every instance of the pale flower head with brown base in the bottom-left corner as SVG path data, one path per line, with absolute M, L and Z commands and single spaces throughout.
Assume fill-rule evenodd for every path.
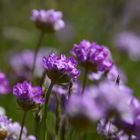
M 11 120 L 5 115 L 0 115 L 0 139 L 4 140 L 8 134 L 8 125 Z

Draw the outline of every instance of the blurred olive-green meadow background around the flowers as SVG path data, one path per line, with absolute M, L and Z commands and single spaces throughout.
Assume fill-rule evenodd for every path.
M 0 0 L 0 70 L 9 74 L 6 59 L 10 50 L 34 49 L 39 31 L 30 20 L 32 9 L 54 8 L 64 13 L 66 28 L 55 35 L 47 34 L 42 46 L 51 46 L 67 54 L 73 44 L 82 39 L 108 46 L 114 62 L 125 71 L 128 85 L 140 97 L 140 62 L 131 61 L 112 43 L 114 34 L 120 31 L 140 33 L 138 10 L 135 7 L 129 10 L 131 3 L 140 5 L 139 0 Z M 124 22 L 126 13 L 133 18 L 128 16 L 128 21 Z M 13 120 L 21 120 L 21 111 L 12 95 L 0 96 L 0 106 L 5 107 L 7 115 Z M 29 132 L 33 133 L 31 118 L 32 113 L 28 115 L 26 124 Z

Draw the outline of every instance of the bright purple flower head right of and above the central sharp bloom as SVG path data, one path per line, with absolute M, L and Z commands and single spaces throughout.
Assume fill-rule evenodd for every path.
M 72 54 L 77 57 L 82 66 L 93 72 L 109 71 L 112 67 L 109 50 L 95 42 L 83 40 L 80 44 L 75 44 Z

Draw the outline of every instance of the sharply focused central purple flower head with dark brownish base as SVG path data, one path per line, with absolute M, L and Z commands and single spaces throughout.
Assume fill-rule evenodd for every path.
M 77 79 L 80 75 L 80 71 L 76 68 L 76 60 L 72 57 L 66 58 L 63 54 L 57 56 L 55 53 L 52 53 L 47 58 L 43 57 L 43 66 L 48 77 L 53 83 L 57 84 L 68 83 Z

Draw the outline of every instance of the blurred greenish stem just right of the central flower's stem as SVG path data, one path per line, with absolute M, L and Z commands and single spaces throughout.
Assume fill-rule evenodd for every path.
M 60 134 L 60 123 L 61 123 L 61 101 L 60 98 L 56 95 L 56 102 L 57 102 L 57 108 L 56 108 L 56 137 L 59 138 Z

